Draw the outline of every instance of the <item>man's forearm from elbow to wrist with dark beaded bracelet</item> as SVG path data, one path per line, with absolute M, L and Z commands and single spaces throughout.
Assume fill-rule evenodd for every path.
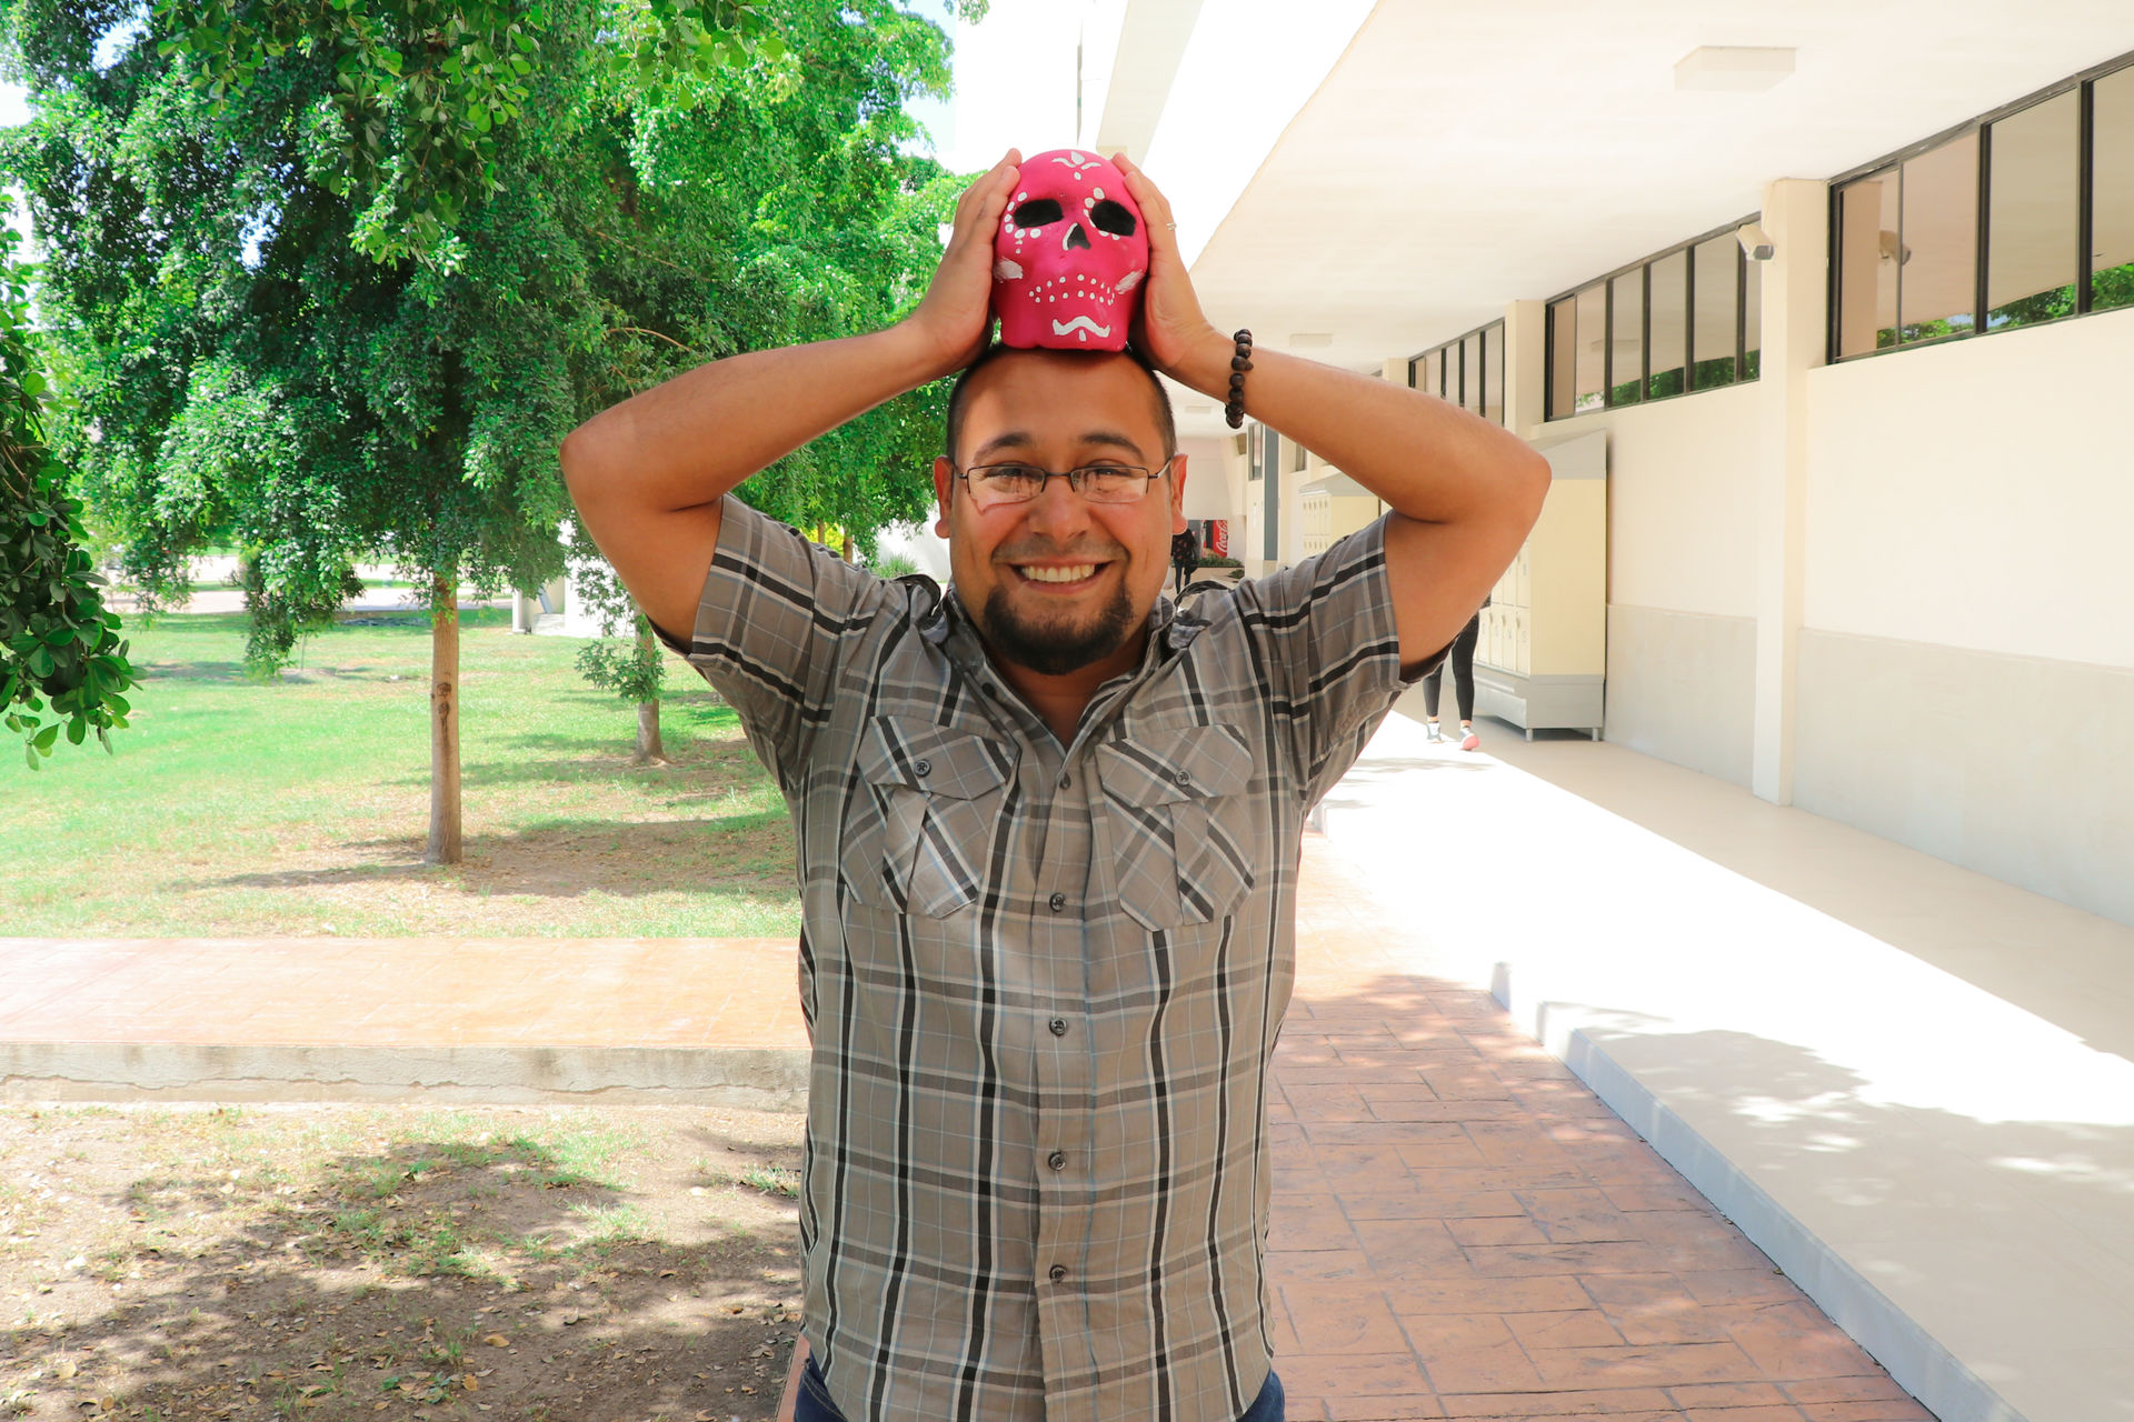
M 1195 352 L 1178 377 L 1210 399 L 1229 392 L 1231 343 Z M 1541 456 L 1436 397 L 1272 350 L 1253 352 L 1244 407 L 1295 439 L 1398 514 L 1460 522 L 1532 495 Z

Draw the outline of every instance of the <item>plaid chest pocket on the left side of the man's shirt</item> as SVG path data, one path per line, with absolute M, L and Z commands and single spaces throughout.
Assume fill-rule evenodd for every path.
M 903 716 L 875 716 L 860 746 L 860 804 L 839 866 L 860 904 L 930 919 L 971 904 L 1016 770 L 1012 744 Z

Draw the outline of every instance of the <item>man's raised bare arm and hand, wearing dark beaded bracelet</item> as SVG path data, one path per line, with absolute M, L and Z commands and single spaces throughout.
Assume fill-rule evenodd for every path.
M 1184 266 L 1169 203 L 1131 162 L 1114 162 L 1148 215 L 1142 350 L 1172 379 L 1227 399 L 1231 341 L 1201 316 L 1191 284 L 1174 277 Z M 1387 379 L 1255 348 L 1244 403 L 1391 505 L 1385 563 L 1406 667 L 1460 635 L 1549 492 L 1549 465 L 1524 439 Z

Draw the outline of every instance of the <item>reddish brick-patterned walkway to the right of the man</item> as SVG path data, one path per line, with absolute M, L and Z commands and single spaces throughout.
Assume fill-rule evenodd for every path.
M 1270 1264 L 1291 1418 L 1931 1418 L 1308 838 Z M 1398 955 L 1398 957 L 1396 957 Z

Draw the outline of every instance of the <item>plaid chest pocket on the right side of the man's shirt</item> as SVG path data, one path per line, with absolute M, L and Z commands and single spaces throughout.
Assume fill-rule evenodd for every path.
M 1253 887 L 1253 753 L 1227 725 L 1097 746 L 1118 900 L 1144 927 L 1212 923 Z

